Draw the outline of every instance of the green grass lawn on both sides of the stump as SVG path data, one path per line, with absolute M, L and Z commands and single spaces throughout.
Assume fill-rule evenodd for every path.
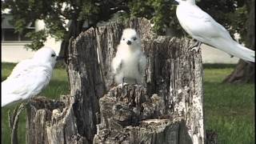
M 2 80 L 15 64 L 2 63 Z M 222 80 L 234 69 L 234 65 L 204 65 L 204 93 L 206 130 L 214 130 L 221 144 L 250 144 L 255 142 L 254 120 L 254 84 L 226 84 Z M 58 98 L 68 94 L 66 70 L 56 68 L 46 90 L 40 95 Z M 2 143 L 10 143 L 10 130 L 7 111 L 14 106 L 2 109 Z M 26 114 L 22 113 L 19 122 L 18 138 L 26 143 Z

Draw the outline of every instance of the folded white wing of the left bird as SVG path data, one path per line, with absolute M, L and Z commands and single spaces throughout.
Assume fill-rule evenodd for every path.
M 26 69 L 20 74 L 16 73 L 15 77 L 7 78 L 2 82 L 2 106 L 40 93 L 50 81 L 44 69 L 42 67 Z

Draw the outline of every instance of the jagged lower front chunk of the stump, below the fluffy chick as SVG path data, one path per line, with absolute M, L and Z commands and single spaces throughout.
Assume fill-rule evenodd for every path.
M 116 86 L 100 98 L 101 123 L 94 144 L 190 144 L 182 117 L 166 115 L 163 98 L 143 86 Z

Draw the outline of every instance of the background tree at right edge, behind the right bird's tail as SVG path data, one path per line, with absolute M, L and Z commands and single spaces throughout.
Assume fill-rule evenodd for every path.
M 246 19 L 246 26 L 238 22 L 238 28 L 242 28 L 242 42 L 245 42 L 247 47 L 255 50 L 255 0 L 250 0 L 242 3 L 242 7 L 237 10 L 237 15 L 240 18 Z M 238 21 L 238 19 L 237 19 Z M 234 21 L 235 22 L 235 21 Z M 255 65 L 254 63 L 244 62 L 241 59 L 234 71 L 224 80 L 224 82 L 241 83 L 255 82 Z

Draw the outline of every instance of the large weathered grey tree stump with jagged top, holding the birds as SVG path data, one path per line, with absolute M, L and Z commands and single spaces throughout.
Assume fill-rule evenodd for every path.
M 147 56 L 142 85 L 116 86 L 111 61 L 132 27 Z M 70 39 L 70 95 L 27 106 L 28 143 L 205 143 L 201 52 L 186 38 L 157 36 L 135 18 Z

